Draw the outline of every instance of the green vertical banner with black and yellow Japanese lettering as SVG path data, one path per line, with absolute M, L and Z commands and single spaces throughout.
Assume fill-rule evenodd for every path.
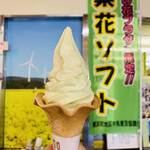
M 140 57 L 137 1 L 89 0 L 89 70 L 101 99 L 90 114 L 90 133 L 137 133 Z

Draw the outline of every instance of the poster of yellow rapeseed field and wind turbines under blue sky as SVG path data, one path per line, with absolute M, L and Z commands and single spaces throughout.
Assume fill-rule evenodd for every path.
M 9 18 L 5 20 L 5 40 L 9 42 L 6 60 L 4 148 L 25 148 L 27 140 L 42 146 L 52 144 L 45 112 L 33 104 L 44 92 L 53 68 L 53 54 L 59 38 L 70 26 L 82 49 L 81 17 Z

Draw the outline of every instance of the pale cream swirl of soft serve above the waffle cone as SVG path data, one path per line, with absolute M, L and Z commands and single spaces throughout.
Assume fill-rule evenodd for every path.
M 44 103 L 59 103 L 68 111 L 73 111 L 81 104 L 91 105 L 94 93 L 70 27 L 64 30 L 56 46 L 54 67 L 48 79 L 42 98 Z

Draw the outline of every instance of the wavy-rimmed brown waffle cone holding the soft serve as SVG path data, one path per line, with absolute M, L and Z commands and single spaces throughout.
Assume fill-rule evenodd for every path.
M 92 105 L 81 104 L 73 112 L 68 112 L 61 104 L 44 104 L 43 96 L 44 93 L 38 93 L 34 104 L 41 107 L 47 114 L 52 134 L 64 138 L 80 135 L 89 113 L 100 106 L 100 100 L 95 95 Z

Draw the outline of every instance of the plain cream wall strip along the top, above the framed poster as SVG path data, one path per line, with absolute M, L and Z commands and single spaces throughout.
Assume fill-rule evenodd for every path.
M 150 0 L 142 1 L 142 16 L 150 17 Z M 77 15 L 87 14 L 88 0 L 0 0 L 4 15 Z

